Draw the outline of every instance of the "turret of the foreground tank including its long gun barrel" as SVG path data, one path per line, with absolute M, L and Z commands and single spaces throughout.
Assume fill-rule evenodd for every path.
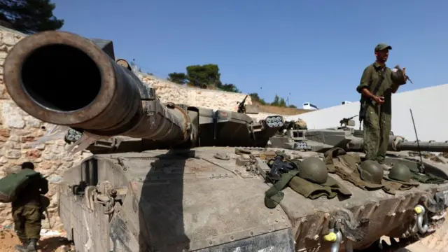
M 64 31 L 22 39 L 8 54 L 4 75 L 10 97 L 21 109 L 79 133 L 73 137 L 72 130 L 66 141 L 87 133 L 109 142 L 127 137 L 119 142 L 139 142 L 127 147 L 144 149 L 265 146 L 284 122 L 280 116 L 255 122 L 245 113 L 163 104 L 125 59 L 113 59 L 111 43 Z M 99 149 L 111 151 L 110 146 Z

